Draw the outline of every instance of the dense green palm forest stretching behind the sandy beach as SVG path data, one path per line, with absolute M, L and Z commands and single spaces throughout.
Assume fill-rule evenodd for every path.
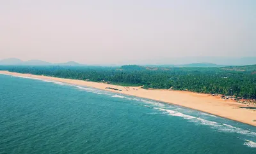
M 0 70 L 125 86 L 256 98 L 256 65 L 237 67 L 0 66 Z

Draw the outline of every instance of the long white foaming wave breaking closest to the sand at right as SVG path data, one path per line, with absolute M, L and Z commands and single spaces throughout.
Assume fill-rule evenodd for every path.
M 202 118 L 197 118 L 195 116 L 185 115 L 183 113 L 179 113 L 178 111 L 173 111 L 170 109 L 163 109 L 163 108 L 154 108 L 154 109 L 159 109 L 160 111 L 164 111 L 164 113 L 168 113 L 168 115 L 171 115 L 171 116 L 179 116 L 181 118 L 189 120 L 189 122 L 200 123 L 201 125 L 208 125 L 213 129 L 217 129 L 221 132 L 233 132 L 233 133 L 243 134 L 247 136 L 256 136 L 256 132 L 252 132 L 250 130 L 244 130 L 238 127 L 234 127 L 232 125 L 227 125 L 225 123 L 212 122 Z

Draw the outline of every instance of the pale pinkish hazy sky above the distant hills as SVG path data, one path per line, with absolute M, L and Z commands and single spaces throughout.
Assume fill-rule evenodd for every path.
M 229 55 L 256 56 L 255 0 L 0 1 L 0 59 L 124 64 Z

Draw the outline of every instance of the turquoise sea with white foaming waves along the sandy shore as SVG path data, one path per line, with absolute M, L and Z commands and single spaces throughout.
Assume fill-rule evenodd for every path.
M 0 74 L 0 153 L 256 153 L 256 127 L 162 102 Z

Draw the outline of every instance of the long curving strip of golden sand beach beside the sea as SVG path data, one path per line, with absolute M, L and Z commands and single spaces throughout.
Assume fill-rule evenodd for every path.
M 32 74 L 11 73 L 8 71 L 0 71 L 0 74 L 60 81 L 63 83 L 93 87 L 101 90 L 108 90 L 120 94 L 132 95 L 136 97 L 142 97 L 155 101 L 184 106 L 186 108 L 197 109 L 199 111 L 204 111 L 205 113 L 210 113 L 212 115 L 217 115 L 223 118 L 236 120 L 237 122 L 243 122 L 249 125 L 256 126 L 256 122 L 253 122 L 253 120 L 256 120 L 255 109 L 246 109 L 246 107 L 248 107 L 246 104 L 241 104 L 236 101 L 225 101 L 217 97 L 212 97 L 209 94 L 197 94 L 194 92 L 184 92 L 177 90 L 145 90 L 140 87 L 122 87 L 118 85 L 109 85 L 106 83 L 96 83 L 92 81 L 71 80 L 54 78 L 49 76 L 38 76 Z M 106 87 L 116 88 L 118 90 L 106 89 Z

